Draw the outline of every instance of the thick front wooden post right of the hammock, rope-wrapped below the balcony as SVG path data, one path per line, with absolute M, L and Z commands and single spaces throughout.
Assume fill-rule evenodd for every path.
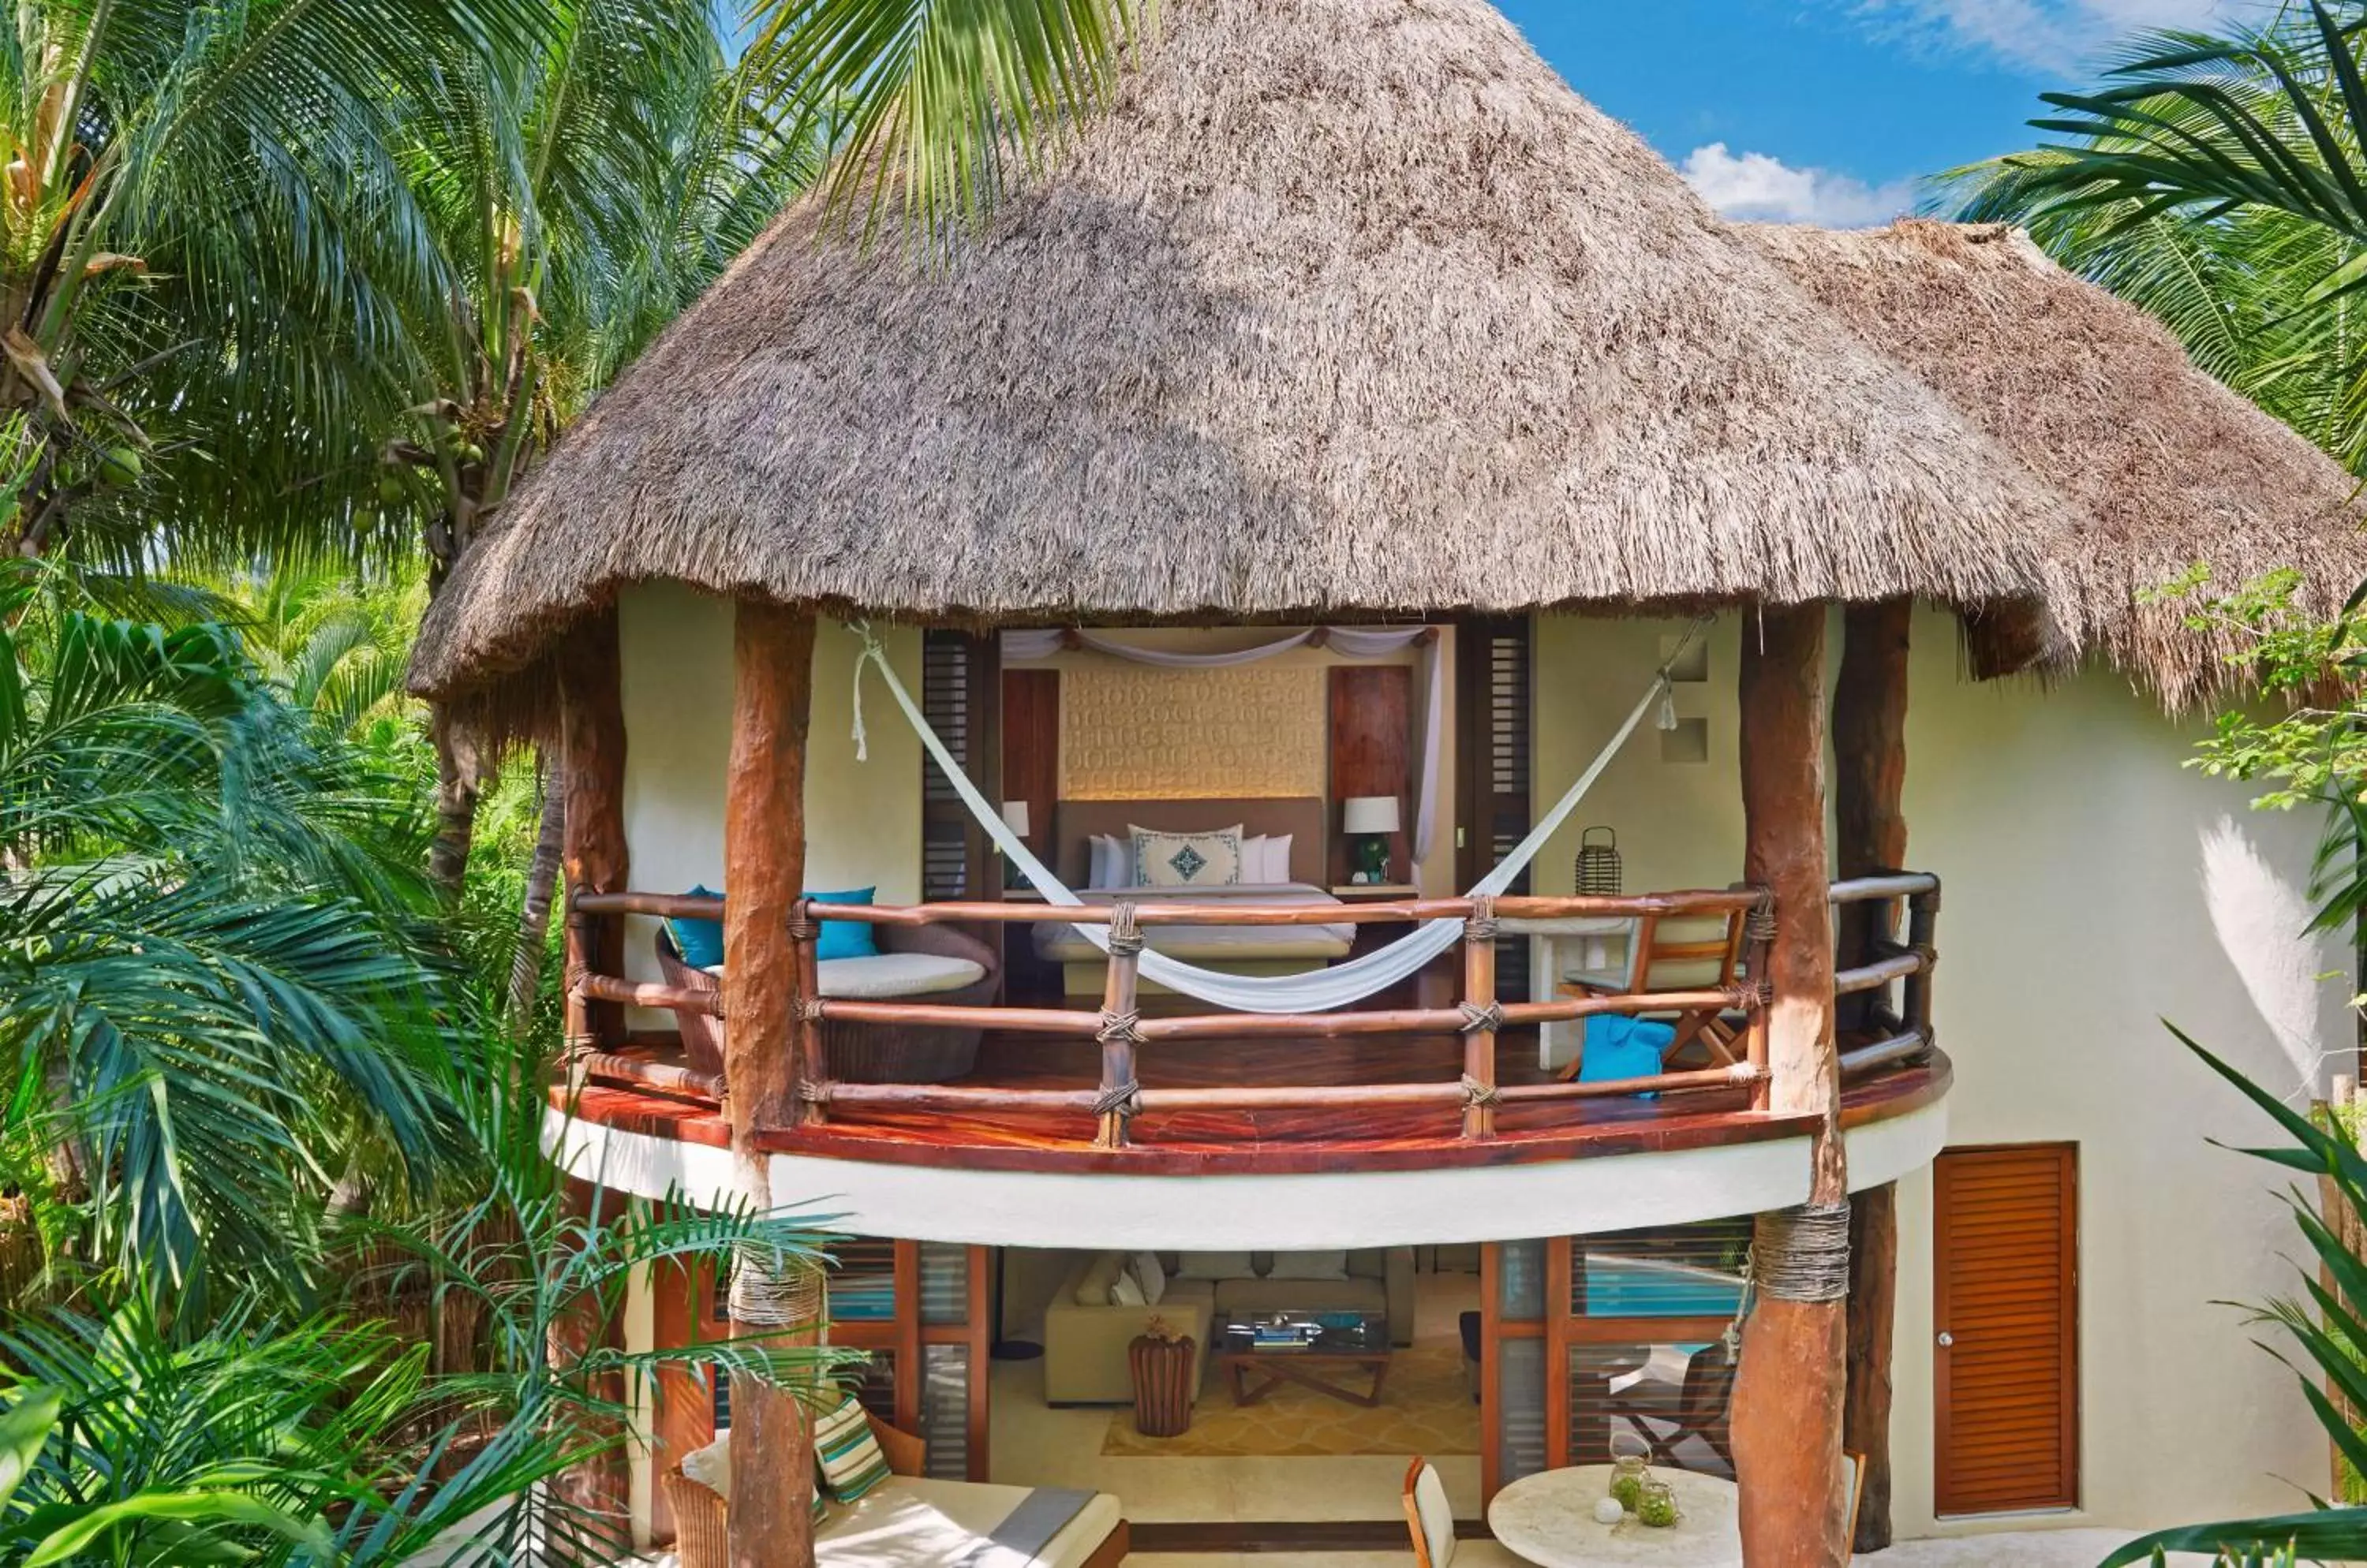
M 1839 1568 L 1849 1173 L 1832 1029 L 1825 861 L 1825 608 L 1766 608 L 1742 627 L 1744 875 L 1775 896 L 1768 944 L 1768 1102 L 1811 1114 L 1808 1204 L 1759 1216 L 1756 1305 L 1733 1400 L 1742 1561 Z

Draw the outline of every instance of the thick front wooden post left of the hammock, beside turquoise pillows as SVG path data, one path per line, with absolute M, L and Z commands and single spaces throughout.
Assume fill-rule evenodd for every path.
M 772 1209 L 757 1135 L 798 1107 L 800 965 L 791 920 L 805 894 L 805 726 L 814 620 L 739 601 L 731 622 L 731 771 L 724 795 L 724 1107 L 741 1194 Z M 767 1263 L 741 1256 L 731 1336 L 783 1339 L 791 1296 Z M 731 1376 L 731 1568 L 812 1568 L 814 1433 L 795 1395 Z

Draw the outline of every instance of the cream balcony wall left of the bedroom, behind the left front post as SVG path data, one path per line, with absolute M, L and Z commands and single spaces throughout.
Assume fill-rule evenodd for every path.
M 724 769 L 731 762 L 731 605 L 653 582 L 618 596 L 625 667 L 625 844 L 632 885 L 684 892 L 724 885 Z M 881 641 L 918 695 L 921 634 Z M 869 762 L 854 762 L 854 634 L 821 622 L 805 769 L 805 885 L 878 885 L 885 903 L 921 896 L 921 740 L 878 676 L 864 683 Z M 625 939 L 627 972 L 656 979 L 651 922 Z M 649 1026 L 672 1019 L 649 1015 Z

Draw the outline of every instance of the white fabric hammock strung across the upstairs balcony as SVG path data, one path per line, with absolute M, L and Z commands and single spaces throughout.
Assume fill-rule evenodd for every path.
M 866 752 L 864 665 L 873 665 L 881 672 L 881 679 L 888 681 L 888 691 L 890 695 L 895 695 L 897 707 L 904 710 L 904 719 L 909 719 L 914 733 L 921 736 L 921 745 L 928 747 L 928 754 L 937 762 L 937 769 L 944 773 L 944 780 L 954 785 L 954 792 L 961 795 L 961 804 L 970 809 L 970 816 L 975 816 L 978 825 L 987 832 L 987 837 L 994 840 L 994 847 L 1001 849 L 1011 858 L 1011 863 L 1020 868 L 1020 873 L 1027 877 L 1027 885 L 1034 887 L 1039 894 L 1044 894 L 1046 903 L 1056 903 L 1063 908 L 1082 908 L 1084 899 L 1079 899 L 1065 882 L 1060 882 L 1060 877 L 1056 877 L 1051 868 L 1044 866 L 1044 861 L 1034 858 L 1027 844 L 1023 844 L 1020 837 L 1011 832 L 1011 828 L 1004 823 L 1004 814 L 997 811 L 985 795 L 980 795 L 978 785 L 970 783 L 970 776 L 963 773 L 959 762 L 954 762 L 954 754 L 944 750 L 944 740 L 940 740 L 937 731 L 933 731 L 928 726 L 928 719 L 921 717 L 921 705 L 911 700 L 909 691 L 904 691 L 904 681 L 897 679 L 895 667 L 888 662 L 888 653 L 871 634 L 871 627 L 857 622 L 850 629 L 854 631 L 854 636 L 864 641 L 864 650 L 854 660 L 857 757 L 864 757 Z M 1678 641 L 1676 653 L 1669 655 L 1669 665 L 1683 657 L 1685 648 L 1692 643 L 1695 636 L 1700 636 L 1700 631 L 1702 624 L 1695 622 L 1695 627 L 1685 631 L 1685 636 Z M 1579 773 L 1579 780 L 1569 785 L 1562 799 L 1557 799 L 1553 809 L 1546 811 L 1543 818 L 1539 818 L 1536 828 L 1529 830 L 1529 837 L 1515 844 L 1513 851 L 1505 854 L 1494 870 L 1489 870 L 1484 877 L 1479 877 L 1477 885 L 1472 885 L 1470 896 L 1494 899 L 1496 894 L 1508 889 L 1513 880 L 1529 866 L 1529 861 L 1536 858 L 1536 851 L 1546 847 L 1546 840 L 1550 840 L 1560 830 L 1560 825 L 1569 821 L 1569 814 L 1576 811 L 1586 792 L 1595 785 L 1598 778 L 1602 778 L 1602 769 L 1612 764 L 1612 757 L 1617 757 L 1619 750 L 1628 743 L 1628 736 L 1633 736 L 1636 726 L 1640 726 L 1645 714 L 1652 712 L 1652 705 L 1666 702 L 1669 665 L 1662 665 L 1659 672 L 1655 672 L 1652 686 L 1645 688 L 1643 700 L 1636 702 L 1636 710 L 1626 717 L 1626 721 L 1610 738 L 1610 743 L 1600 752 L 1595 752 L 1595 759 L 1586 764 L 1586 771 Z M 1210 925 L 1221 925 L 1221 922 L 1224 922 L 1221 913 L 1212 913 Z M 1105 925 L 1077 925 L 1077 932 L 1103 953 L 1110 951 L 1110 929 Z M 1425 920 L 1385 948 L 1375 948 L 1361 958 L 1352 958 L 1328 970 L 1314 970 L 1309 974 L 1221 974 L 1217 970 L 1202 970 L 1200 965 L 1188 965 L 1165 953 L 1153 953 L 1146 946 L 1141 958 L 1141 972 L 1146 979 L 1153 979 L 1167 986 L 1169 991 L 1181 991 L 1186 996 L 1200 998 L 1202 1003 L 1228 1007 L 1233 1012 L 1333 1012 L 1337 1007 L 1347 1007 L 1349 1003 L 1361 1003 L 1368 996 L 1387 991 L 1389 986 L 1404 979 L 1411 979 L 1423 970 L 1423 965 L 1427 965 L 1432 958 L 1451 948 L 1460 937 L 1463 937 L 1460 920 Z

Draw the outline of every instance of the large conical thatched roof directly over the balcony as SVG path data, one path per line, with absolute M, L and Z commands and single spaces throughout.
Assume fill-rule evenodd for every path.
M 632 579 L 899 617 L 2043 598 L 2076 508 L 1484 0 L 1172 0 L 918 272 L 805 203 L 601 397 L 414 686 Z

